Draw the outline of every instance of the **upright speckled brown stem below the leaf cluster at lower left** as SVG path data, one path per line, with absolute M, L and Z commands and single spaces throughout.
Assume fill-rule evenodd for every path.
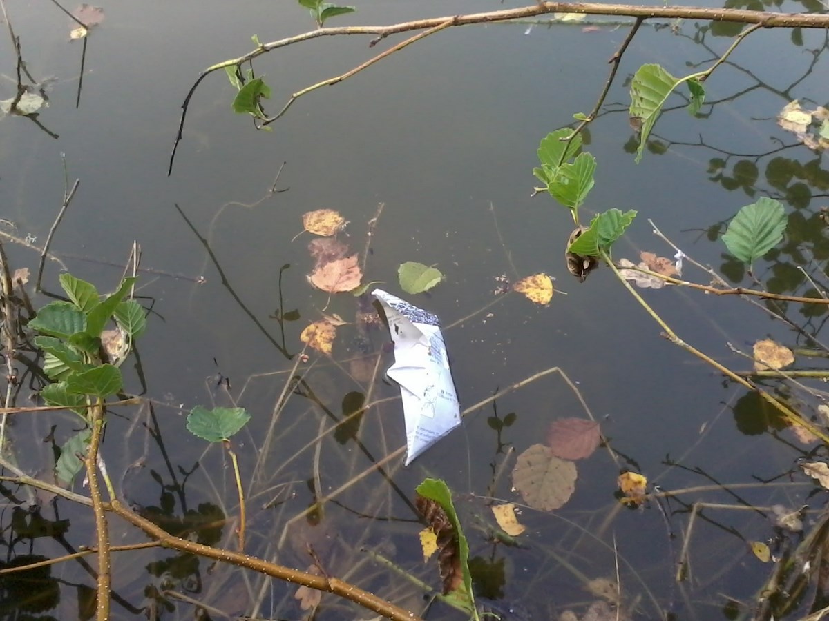
M 109 588 L 111 582 L 110 558 L 109 558 L 109 527 L 104 513 L 104 501 L 101 499 L 100 485 L 98 481 L 98 449 L 101 441 L 101 434 L 104 431 L 104 406 L 98 400 L 90 410 L 92 415 L 92 436 L 90 447 L 86 451 L 85 465 L 86 477 L 90 482 L 90 500 L 92 511 L 95 513 L 95 536 L 98 539 L 98 598 L 96 619 L 108 621 L 109 619 Z M 113 498 L 114 499 L 114 498 Z

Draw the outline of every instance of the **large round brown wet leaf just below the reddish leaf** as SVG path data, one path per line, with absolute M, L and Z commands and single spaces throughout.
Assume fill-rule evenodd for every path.
M 549 446 L 534 444 L 518 455 L 512 484 L 532 508 L 553 511 L 570 500 L 577 476 L 572 461 L 560 460 Z

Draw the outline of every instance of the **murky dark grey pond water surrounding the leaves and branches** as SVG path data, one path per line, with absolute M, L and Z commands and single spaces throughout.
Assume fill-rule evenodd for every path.
M 461 2 L 451 10 L 502 6 Z M 14 234 L 42 243 L 61 204 L 65 153 L 69 180 L 79 178 L 80 189 L 53 252 L 73 274 L 101 290 L 117 285 L 121 270 L 109 263 L 123 265 L 133 240 L 142 248 L 143 267 L 152 270 L 140 279 L 139 293 L 153 308 L 148 334 L 138 344 L 140 366 L 128 362 L 124 372 L 128 390 L 152 399 L 153 409 L 112 412 L 103 449 L 110 473 L 118 473 L 116 488 L 133 508 L 174 534 L 235 549 L 238 500 L 229 457 L 221 446 L 207 449 L 189 436 L 185 415 L 199 404 L 238 404 L 253 414 L 250 426 L 234 440 L 249 493 L 245 551 L 250 553 L 304 570 L 313 566 L 309 544 L 329 575 L 429 619 L 452 618 L 445 606 L 424 613 L 422 590 L 378 560 L 382 556 L 438 585 L 434 561 L 424 566 L 419 558 L 421 525 L 411 506 L 414 486 L 424 476 L 435 476 L 459 494 L 478 594 L 499 600 L 502 608 L 521 602 L 534 619 L 557 618 L 569 607 L 582 614 L 596 599 L 585 585 L 613 578 L 617 556 L 624 604 L 636 603 L 637 619 L 658 619 L 660 611 L 678 619 L 710 619 L 719 617 L 729 599 L 750 606 L 770 566 L 751 555 L 747 542 L 771 537 L 768 521 L 753 511 L 705 509 L 690 534 L 691 578 L 676 585 L 673 575 L 690 513 L 680 502 L 797 508 L 812 489 L 797 474 L 793 484 L 739 489 L 734 492 L 739 500 L 716 491 L 715 482 L 773 479 L 806 449 L 789 431 L 778 436 L 793 445 L 764 434 L 764 426 L 756 425 L 758 406 L 744 398 L 744 389 L 663 339 L 608 269 L 582 285 L 575 282 L 563 256 L 573 226 L 570 214 L 549 196 L 531 196 L 539 140 L 569 123 L 573 113 L 592 108 L 607 76 L 606 61 L 627 35 L 626 26 L 599 31 L 534 26 L 526 34 L 526 24 L 520 24 L 441 32 L 342 84 L 299 99 L 272 133 L 256 132 L 249 118 L 231 112 L 233 89 L 217 72 L 191 101 L 167 177 L 179 106 L 198 72 L 249 51 L 253 34 L 273 41 L 307 31 L 313 27 L 307 14 L 292 2 L 107 5 L 106 21 L 90 36 L 80 107 L 75 108 L 80 43 L 66 41 L 68 20 L 53 7 L 7 8 L 32 74 L 56 77 L 50 106 L 39 120 L 60 138 L 24 118 L 2 119 L 5 209 L 0 215 L 16 225 Z M 441 2 L 361 2 L 358 9 L 336 23 L 391 23 L 448 11 Z M 646 26 L 628 49 L 608 94 L 608 112 L 590 128 L 586 148 L 599 167 L 585 209 L 638 209 L 640 217 L 615 251 L 618 257 L 636 258 L 638 249 L 672 256 L 671 248 L 652 235 L 646 222 L 652 218 L 686 253 L 717 269 L 724 265 L 730 274 L 724 246 L 706 238 L 705 229 L 756 196 L 790 199 L 797 179 L 780 183 L 766 176 L 770 169 L 794 170 L 811 195 L 787 205 L 800 233 L 757 273 L 779 277 L 770 287 L 802 293 L 808 285 L 793 265 L 811 253 L 815 262 L 810 265 L 820 271 L 827 257 L 817 211 L 826 203 L 829 183 L 821 157 L 777 128 L 774 117 L 789 99 L 825 103 L 825 40 L 817 31 L 803 33 L 802 47 L 794 46 L 786 31 L 749 36 L 731 56 L 734 65 L 724 65 L 705 84 L 707 98 L 717 102 L 704 108 L 710 117 L 691 118 L 682 109 L 667 113 L 655 133 L 674 146 L 662 155 L 647 152 L 637 166 L 624 148 L 632 133 L 623 111 L 626 80 L 642 63 L 658 61 L 682 75 L 686 61 L 709 60 L 710 52 L 692 39 L 697 27 L 683 23 L 675 35 Z M 369 50 L 367 41 L 331 37 L 256 60 L 257 74 L 274 87 L 266 109 L 274 113 L 288 94 L 369 58 L 379 46 Z M 730 44 L 710 33 L 705 42 L 720 53 Z M 817 51 L 806 52 L 811 49 Z M 4 59 L 2 71 L 13 75 L 12 56 Z M 790 87 L 801 75 L 804 79 Z M 3 87 L 3 98 L 12 96 L 13 85 Z M 678 96 L 671 99 L 680 102 Z M 769 166 L 775 157 L 787 159 L 775 169 Z M 709 172 L 712 158 L 725 160 L 726 176 L 734 162 L 752 162 L 757 178 L 749 175 L 728 190 L 724 185 L 734 184 L 711 181 L 716 175 Z M 810 161 L 811 167 L 795 164 Z M 274 180 L 278 190 L 286 191 L 271 194 Z M 703 484 L 712 489 L 681 496 L 665 507 L 666 513 L 656 505 L 620 511 L 613 498 L 619 465 L 599 450 L 579 462 L 576 491 L 564 508 L 521 513 L 528 527 L 521 536 L 526 548 L 487 542 L 484 525 L 492 519 L 485 502 L 470 494 L 520 503 L 511 492 L 515 455 L 543 438 L 556 417 L 585 416 L 574 392 L 552 373 L 497 400 L 498 416 L 516 413 L 514 424 L 502 433 L 502 445 L 487 424 L 496 413 L 489 405 L 470 414 L 462 430 L 409 469 L 391 460 L 383 466 L 385 476 L 372 470 L 338 492 L 322 515 L 304 517 L 315 494 L 337 491 L 403 443 L 397 388 L 381 378 L 389 354 L 382 354 L 381 376 L 374 383 L 361 378 L 351 363 L 366 352 L 383 351 L 387 336 L 382 330 L 342 326 L 333 360 L 311 353 L 308 363 L 293 370 L 301 349 L 298 335 L 308 322 L 321 318 L 323 310 L 351 321 L 360 310 L 352 296 L 328 301 L 308 285 L 305 275 L 313 261 L 307 251 L 310 236 L 298 236 L 301 215 L 337 209 L 350 221 L 342 240 L 361 251 L 366 223 L 379 204 L 384 208 L 371 237 L 365 280 L 384 282 L 400 293 L 400 262 L 435 264 L 444 272 L 445 282 L 412 301 L 453 326 L 445 337 L 462 407 L 560 367 L 601 421 L 620 454 L 619 465 L 641 471 L 662 489 Z M 6 249 L 15 267 L 36 266 L 36 253 L 13 243 Z M 280 301 L 280 268 L 286 264 Z M 557 279 L 550 306 L 534 306 L 515 294 L 496 300 L 496 277 L 503 274 L 514 282 L 536 272 Z M 701 272 L 686 273 L 707 282 Z M 56 291 L 57 276 L 56 266 L 47 265 L 47 290 Z M 749 362 L 732 354 L 726 342 L 744 351 L 766 335 L 797 342 L 782 323 L 737 299 L 686 290 L 644 291 L 643 296 L 682 339 L 732 368 L 749 368 Z M 300 315 L 284 322 L 284 336 L 271 316 L 280 306 Z M 799 324 L 811 322 L 809 330 L 821 326 L 821 316 L 810 320 L 796 306 L 789 315 Z M 463 318 L 468 319 L 454 325 Z M 304 383 L 274 416 L 284 383 L 294 373 Z M 315 452 L 313 440 L 349 412 L 343 399 L 355 392 L 369 401 L 386 399 L 362 417 L 361 444 L 341 428 L 338 436 L 325 436 Z M 21 394 L 19 402 L 27 396 Z M 348 398 L 351 403 L 361 397 Z M 13 450 L 27 472 L 50 469 L 51 446 L 39 440 L 51 426 L 60 444 L 77 423 L 63 414 L 16 419 Z M 264 450 L 271 429 L 274 436 Z M 747 436 L 745 431 L 759 433 Z M 514 452 L 507 457 L 510 448 Z M 681 468 L 669 468 L 667 460 Z M 80 481 L 75 489 L 86 493 Z M 22 527 L 25 514 L 19 508 L 12 513 L 19 500 L 9 498 L 3 518 L 8 559 L 23 563 L 28 554 L 61 556 L 94 542 L 87 508 L 46 502 L 35 515 L 49 520 L 50 527 L 35 537 Z M 56 535 L 60 519 L 69 519 L 70 526 L 61 526 Z M 114 543 L 145 541 L 114 518 L 112 528 Z M 84 616 L 95 586 L 95 561 L 88 561 L 53 566 L 42 583 L 49 597 L 36 599 L 39 608 L 29 610 L 57 619 Z M 3 614 L 18 618 L 14 615 L 26 610 L 19 603 L 20 589 L 30 595 L 31 590 L 9 584 L 4 583 Z M 118 619 L 150 614 L 146 607 L 163 618 L 190 615 L 192 604 L 182 601 L 184 596 L 226 614 L 299 619 L 303 612 L 294 591 L 279 581 L 263 584 L 257 575 L 173 551 L 126 551 L 114 558 L 113 616 Z M 327 595 L 318 618 L 359 615 Z

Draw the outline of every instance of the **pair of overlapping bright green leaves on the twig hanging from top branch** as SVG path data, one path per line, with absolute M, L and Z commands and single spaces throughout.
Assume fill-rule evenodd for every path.
M 581 152 L 581 142 L 581 135 L 567 128 L 547 134 L 538 146 L 541 166 L 532 171 L 546 185 L 550 196 L 570 209 L 576 224 L 579 206 L 593 188 L 596 171 L 596 159 Z

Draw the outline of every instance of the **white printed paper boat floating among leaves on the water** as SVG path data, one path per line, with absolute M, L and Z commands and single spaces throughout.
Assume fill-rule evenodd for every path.
M 460 425 L 458 395 L 437 315 L 380 289 L 371 295 L 383 306 L 395 344 L 395 363 L 386 374 L 400 384 L 409 465 Z

